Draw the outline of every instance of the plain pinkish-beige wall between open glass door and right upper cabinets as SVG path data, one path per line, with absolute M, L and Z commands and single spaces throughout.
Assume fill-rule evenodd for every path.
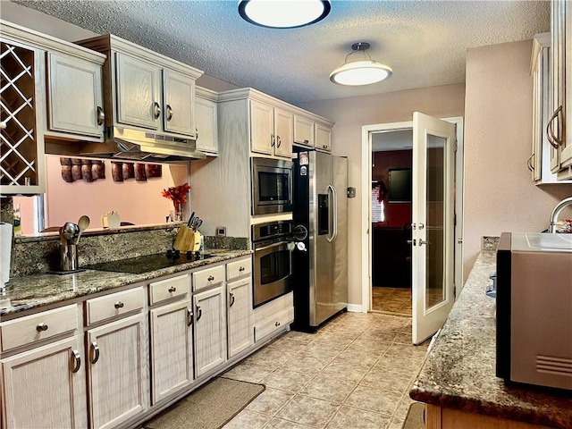
M 572 185 L 536 186 L 526 159 L 532 146 L 532 41 L 467 51 L 464 275 L 484 235 L 543 231 Z

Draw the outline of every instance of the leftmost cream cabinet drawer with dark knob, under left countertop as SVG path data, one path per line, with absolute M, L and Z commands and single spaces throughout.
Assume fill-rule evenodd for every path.
M 2 351 L 45 340 L 63 332 L 78 329 L 76 305 L 43 311 L 0 324 Z

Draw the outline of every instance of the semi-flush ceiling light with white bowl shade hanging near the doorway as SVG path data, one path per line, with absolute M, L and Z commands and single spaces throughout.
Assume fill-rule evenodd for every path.
M 353 86 L 369 85 L 391 78 L 393 73 L 391 67 L 372 60 L 371 56 L 367 54 L 366 50 L 369 48 L 369 43 L 354 43 L 351 48 L 353 51 L 346 55 L 343 65 L 330 74 L 330 80 L 333 83 Z M 349 56 L 357 52 L 363 52 L 364 58 L 348 61 Z

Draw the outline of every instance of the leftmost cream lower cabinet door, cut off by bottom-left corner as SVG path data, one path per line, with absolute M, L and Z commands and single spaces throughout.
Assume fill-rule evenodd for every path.
M 71 337 L 0 361 L 2 427 L 87 427 L 82 350 L 80 337 Z

